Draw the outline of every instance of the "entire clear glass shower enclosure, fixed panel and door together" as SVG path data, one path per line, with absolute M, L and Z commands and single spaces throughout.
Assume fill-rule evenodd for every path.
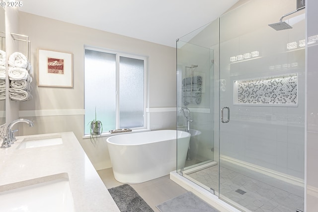
M 305 10 L 268 26 L 295 9 L 248 1 L 176 42 L 177 171 L 240 211 L 304 211 Z

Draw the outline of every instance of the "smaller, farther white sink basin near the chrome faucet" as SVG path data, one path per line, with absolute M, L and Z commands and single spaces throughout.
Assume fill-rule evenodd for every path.
M 20 143 L 20 145 L 17 147 L 17 149 L 59 145 L 62 143 L 63 143 L 63 141 L 62 141 L 62 137 L 60 135 L 46 136 L 46 137 L 35 137 L 35 138 L 25 138 Z

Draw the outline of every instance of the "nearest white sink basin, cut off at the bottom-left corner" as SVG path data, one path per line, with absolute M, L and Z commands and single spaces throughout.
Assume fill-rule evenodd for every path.
M 0 186 L 0 211 L 74 212 L 68 174 Z

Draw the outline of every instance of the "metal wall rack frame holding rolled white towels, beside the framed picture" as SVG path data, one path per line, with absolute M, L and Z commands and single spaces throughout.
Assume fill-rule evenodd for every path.
M 25 57 L 27 58 L 27 67 L 26 70 L 28 71 L 29 76 L 26 79 L 27 82 L 27 98 L 23 101 L 27 101 L 31 99 L 31 63 L 30 63 L 30 55 L 31 55 L 31 42 L 29 41 L 29 36 L 27 35 L 21 35 L 16 33 L 10 33 L 11 37 L 15 41 L 22 41 L 25 42 Z

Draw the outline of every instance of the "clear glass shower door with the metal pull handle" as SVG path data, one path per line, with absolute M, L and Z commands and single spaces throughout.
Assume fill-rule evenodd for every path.
M 268 26 L 295 9 L 254 0 L 220 17 L 219 198 L 241 211 L 304 211 L 305 11 Z

